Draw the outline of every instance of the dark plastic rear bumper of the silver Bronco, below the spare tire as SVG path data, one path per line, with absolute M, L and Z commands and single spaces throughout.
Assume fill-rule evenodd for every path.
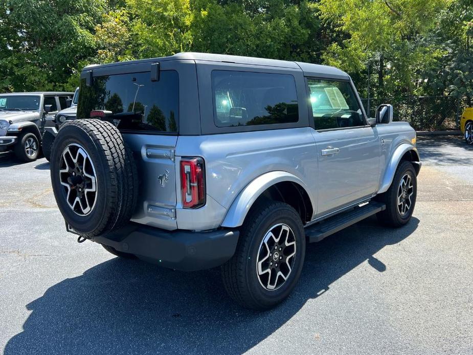
M 238 236 L 238 230 L 232 229 L 166 231 L 131 222 L 115 233 L 92 240 L 167 268 L 196 271 L 228 261 L 235 253 Z

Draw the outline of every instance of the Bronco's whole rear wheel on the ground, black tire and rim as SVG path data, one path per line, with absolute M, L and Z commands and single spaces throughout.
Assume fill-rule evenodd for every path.
M 304 256 L 304 227 L 296 210 L 262 202 L 249 212 L 234 256 L 221 267 L 223 284 L 245 308 L 272 308 L 296 286 Z

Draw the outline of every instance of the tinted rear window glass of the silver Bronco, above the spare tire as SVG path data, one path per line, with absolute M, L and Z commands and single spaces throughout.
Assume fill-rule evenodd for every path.
M 120 130 L 177 132 L 179 77 L 162 71 L 159 81 L 149 72 L 94 77 L 81 80 L 77 115 L 89 118 L 93 110 L 107 112 L 107 120 Z

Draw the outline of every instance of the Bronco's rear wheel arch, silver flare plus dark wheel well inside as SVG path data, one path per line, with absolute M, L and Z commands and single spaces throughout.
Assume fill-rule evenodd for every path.
M 286 171 L 272 171 L 258 176 L 238 194 L 223 219 L 222 227 L 235 228 L 243 224 L 250 209 L 261 198 L 285 202 L 296 209 L 302 222 L 310 221 L 314 199 L 297 176 Z

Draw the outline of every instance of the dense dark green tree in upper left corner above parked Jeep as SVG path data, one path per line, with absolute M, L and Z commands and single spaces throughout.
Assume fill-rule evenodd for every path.
M 68 78 L 94 54 L 105 8 L 105 0 L 0 0 L 0 90 L 73 90 Z

